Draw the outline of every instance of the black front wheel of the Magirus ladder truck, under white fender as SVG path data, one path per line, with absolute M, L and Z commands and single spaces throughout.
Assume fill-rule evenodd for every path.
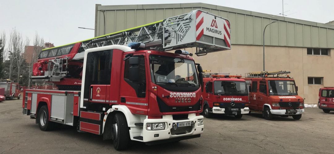
M 124 150 L 130 144 L 129 127 L 124 114 L 116 113 L 112 121 L 113 144 L 116 150 Z M 117 130 L 117 134 L 115 132 Z

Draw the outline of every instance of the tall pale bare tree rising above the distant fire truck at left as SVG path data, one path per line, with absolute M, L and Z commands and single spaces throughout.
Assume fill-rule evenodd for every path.
M 20 32 L 16 30 L 16 28 L 13 28 L 10 31 L 9 35 L 9 78 L 12 77 L 13 73 L 13 64 L 16 61 L 16 54 L 21 53 L 20 50 L 22 50 L 23 46 L 23 39 Z

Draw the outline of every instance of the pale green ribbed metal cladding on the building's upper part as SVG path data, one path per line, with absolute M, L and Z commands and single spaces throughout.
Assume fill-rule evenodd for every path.
M 96 36 L 141 26 L 201 9 L 229 19 L 231 42 L 240 45 L 334 48 L 334 25 L 204 3 L 96 6 Z M 105 13 L 101 12 L 104 10 Z M 104 18 L 106 21 L 104 23 Z M 104 32 L 106 24 L 106 32 Z

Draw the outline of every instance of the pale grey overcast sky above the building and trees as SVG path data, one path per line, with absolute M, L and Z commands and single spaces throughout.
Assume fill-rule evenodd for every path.
M 201 0 L 0 0 L 0 31 L 9 38 L 14 27 L 32 40 L 35 32 L 55 46 L 94 37 L 95 4 L 131 5 L 196 3 Z M 282 0 L 206 0 L 208 4 L 279 15 Z M 284 14 L 301 20 L 327 23 L 334 20 L 334 0 L 284 0 Z M 31 42 L 32 44 L 32 42 Z

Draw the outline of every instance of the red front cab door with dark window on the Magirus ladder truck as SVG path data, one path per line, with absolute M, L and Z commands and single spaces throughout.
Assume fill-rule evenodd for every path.
M 130 110 L 146 114 L 148 109 L 147 65 L 143 54 L 124 56 L 122 65 L 120 104 Z

